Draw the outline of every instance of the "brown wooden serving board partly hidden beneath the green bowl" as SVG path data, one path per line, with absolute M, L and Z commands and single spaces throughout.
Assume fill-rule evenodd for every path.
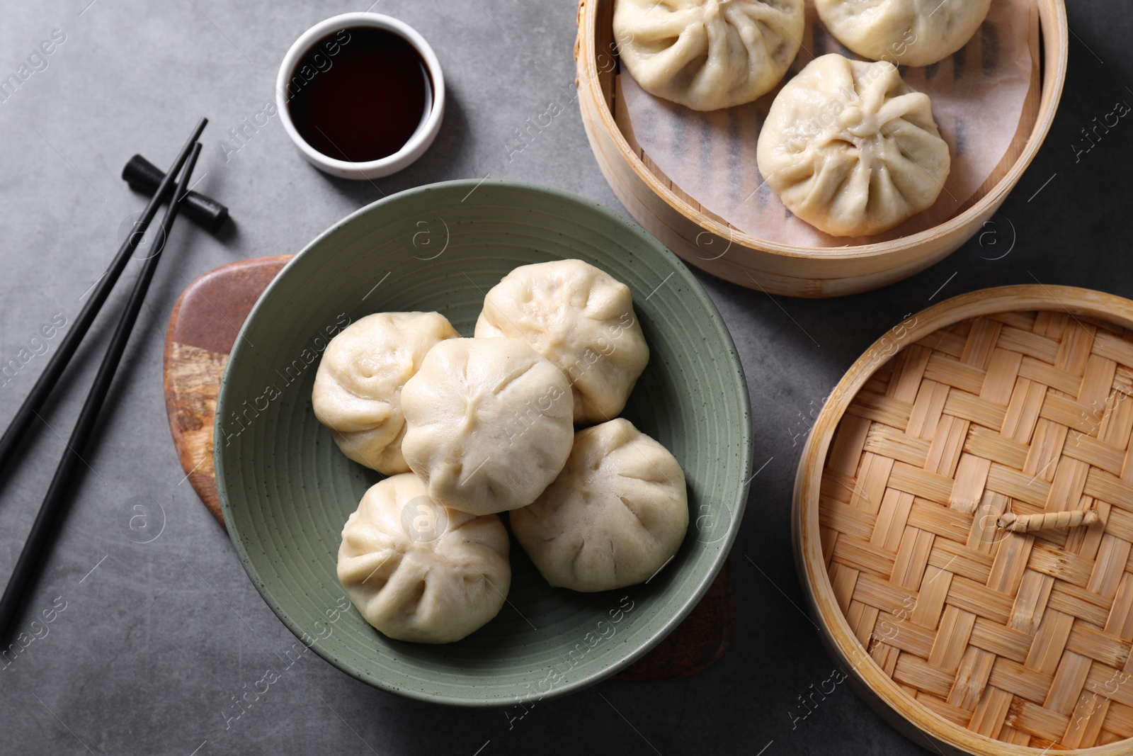
M 290 255 L 257 257 L 212 270 L 190 283 L 165 333 L 165 410 L 181 467 L 223 525 L 213 468 L 213 417 L 228 355 L 252 306 Z M 615 680 L 668 680 L 712 665 L 732 644 L 732 570 L 724 563 L 692 613 Z

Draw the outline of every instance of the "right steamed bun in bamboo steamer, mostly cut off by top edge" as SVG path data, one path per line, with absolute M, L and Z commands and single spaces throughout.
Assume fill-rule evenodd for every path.
M 991 0 L 815 0 L 838 42 L 863 58 L 928 66 L 968 44 Z

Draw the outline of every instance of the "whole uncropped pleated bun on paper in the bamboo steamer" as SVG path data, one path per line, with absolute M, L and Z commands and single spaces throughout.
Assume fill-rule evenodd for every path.
M 896 67 L 816 58 L 776 95 L 759 172 L 787 210 L 834 236 L 879 233 L 936 202 L 948 145 Z

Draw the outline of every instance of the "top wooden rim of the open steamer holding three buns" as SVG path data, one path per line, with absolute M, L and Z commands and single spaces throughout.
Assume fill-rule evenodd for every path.
M 1063 85 L 1066 80 L 1070 26 L 1066 20 L 1065 0 L 1036 0 L 1039 6 L 1039 19 L 1042 40 L 1045 42 L 1045 76 L 1042 77 L 1040 110 L 1034 122 L 1034 128 L 1031 130 L 1031 135 L 1028 137 L 1026 145 L 1024 146 L 1022 153 L 1019 155 L 1015 164 L 1011 167 L 1011 170 L 1008 170 L 1002 179 L 999 179 L 995 187 L 993 187 L 986 195 L 980 197 L 978 202 L 972 204 L 972 206 L 968 207 L 962 213 L 949 218 L 944 223 L 925 229 L 923 231 L 918 231 L 917 233 L 906 237 L 888 241 L 877 241 L 874 244 L 846 247 L 803 247 L 798 245 L 784 245 L 777 241 L 768 241 L 766 239 L 760 239 L 744 233 L 733 229 L 731 226 L 721 223 L 719 221 L 700 213 L 684 202 L 684 199 L 679 197 L 671 188 L 665 186 L 665 184 L 658 179 L 653 171 L 646 168 L 645 163 L 637 155 L 637 153 L 630 148 L 629 142 L 617 127 L 617 124 L 614 121 L 614 116 L 610 111 L 610 107 L 606 104 L 606 97 L 602 92 L 602 85 L 598 79 L 595 44 L 597 39 L 599 1 L 614 2 L 615 0 L 579 0 L 579 35 L 574 42 L 574 58 L 578 60 L 580 66 L 585 66 L 586 75 L 585 77 L 581 77 L 580 80 L 577 80 L 576 84 L 579 87 L 586 87 L 587 94 L 595 103 L 597 103 L 598 116 L 602 119 L 602 127 L 606 130 L 607 135 L 614 139 L 622 159 L 629 163 L 629 165 L 650 190 L 664 199 L 671 207 L 679 211 L 692 223 L 696 223 L 704 230 L 714 233 L 719 238 L 726 238 L 730 241 L 739 243 L 744 247 L 756 247 L 761 252 L 772 253 L 782 257 L 802 260 L 813 260 L 815 257 L 821 257 L 824 260 L 860 260 L 911 249 L 936 237 L 944 236 L 953 230 L 956 230 L 964 224 L 974 221 L 980 215 L 988 213 L 989 210 L 997 207 L 1004 199 L 1006 199 L 1007 194 L 1019 182 L 1023 171 L 1031 164 L 1031 161 L 1034 159 L 1036 153 L 1038 153 L 1039 147 L 1042 146 L 1042 142 L 1050 131 L 1050 125 L 1054 122 L 1055 112 L 1057 111 L 1058 102 L 1062 99 Z M 816 249 L 820 249 L 820 252 L 816 252 Z

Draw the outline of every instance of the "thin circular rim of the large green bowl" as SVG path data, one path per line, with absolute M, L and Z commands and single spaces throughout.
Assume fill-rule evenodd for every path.
M 252 324 L 255 321 L 259 312 L 264 308 L 264 303 L 269 300 L 269 298 L 273 295 L 274 290 L 280 286 L 280 282 L 288 274 L 288 272 L 296 265 L 296 263 L 299 262 L 300 258 L 303 258 L 304 256 L 310 254 L 312 249 L 324 243 L 324 240 L 332 237 L 340 229 L 358 221 L 366 213 L 374 212 L 376 207 L 386 204 L 395 204 L 399 199 L 403 199 L 409 196 L 426 194 L 428 192 L 436 192 L 437 189 L 454 189 L 457 192 L 462 192 L 467 189 L 468 194 L 471 194 L 471 190 L 484 184 L 487 184 L 489 186 L 494 185 L 500 187 L 506 187 L 509 189 L 516 189 L 526 193 L 530 192 L 542 193 L 551 195 L 552 197 L 559 198 L 561 201 L 565 201 L 577 205 L 582 205 L 588 210 L 593 210 L 602 215 L 605 215 L 612 222 L 624 227 L 630 232 L 640 237 L 642 241 L 647 244 L 647 246 L 654 248 L 658 254 L 661 254 L 663 258 L 667 260 L 673 267 L 673 274 L 683 280 L 690 294 L 692 294 L 692 296 L 695 296 L 699 300 L 701 306 L 705 307 L 708 314 L 708 318 L 712 321 L 713 330 L 716 332 L 717 337 L 722 339 L 722 343 L 725 347 L 725 350 L 727 351 L 730 357 L 729 366 L 731 367 L 731 369 L 727 371 L 727 375 L 730 375 L 735 381 L 734 389 L 739 394 L 743 415 L 742 418 L 743 422 L 740 424 L 742 434 L 742 444 L 743 444 L 743 460 L 742 460 L 743 466 L 741 469 L 743 481 L 740 482 L 739 484 L 734 501 L 722 502 L 722 506 L 724 506 L 725 503 L 731 503 L 731 507 L 729 508 L 731 517 L 724 537 L 721 538 L 719 541 L 713 542 L 713 545 L 718 544 L 718 547 L 716 549 L 716 554 L 713 559 L 710 568 L 705 572 L 705 576 L 697 584 L 696 588 L 683 600 L 683 602 L 680 604 L 676 611 L 671 617 L 668 617 L 659 628 L 655 629 L 651 636 L 646 642 L 641 643 L 633 651 L 625 653 L 621 659 L 619 659 L 616 662 L 612 664 L 603 666 L 577 680 L 572 680 L 561 686 L 553 687 L 550 691 L 544 694 L 542 698 L 539 698 L 539 700 L 546 700 L 559 696 L 564 696 L 570 693 L 576 693 L 591 685 L 596 685 L 607 679 L 612 674 L 619 672 L 620 670 L 625 669 L 627 666 L 636 662 L 638 659 L 653 651 L 653 648 L 655 648 L 657 644 L 664 640 L 668 636 L 668 634 L 672 632 L 676 628 L 676 626 L 680 625 L 684 620 L 684 618 L 689 615 L 689 613 L 693 610 L 693 608 L 696 608 L 696 605 L 700 602 L 704 595 L 708 592 L 708 588 L 716 579 L 716 576 L 719 574 L 721 569 L 724 567 L 724 562 L 729 558 L 729 554 L 732 550 L 732 545 L 735 542 L 736 535 L 739 534 L 740 525 L 743 520 L 744 509 L 747 508 L 748 503 L 748 493 L 751 486 L 751 468 L 755 455 L 755 443 L 753 443 L 755 432 L 751 424 L 752 421 L 751 397 L 748 392 L 747 375 L 743 372 L 743 365 L 740 362 L 740 355 L 735 348 L 735 342 L 732 339 L 731 332 L 729 332 L 727 330 L 727 325 L 724 323 L 724 317 L 723 315 L 721 315 L 719 309 L 716 307 L 715 303 L 713 303 L 712 298 L 708 296 L 708 292 L 705 290 L 704 286 L 696 279 L 696 277 L 692 274 L 689 267 L 676 255 L 674 255 L 665 245 L 658 241 L 653 235 L 650 235 L 639 224 L 629 220 L 621 213 L 617 213 L 611 210 L 610 207 L 606 207 L 602 203 L 595 202 L 594 199 L 583 197 L 572 192 L 566 192 L 563 189 L 557 189 L 540 184 L 533 184 L 529 181 L 513 181 L 508 179 L 479 179 L 479 180 L 457 179 L 451 181 L 438 181 L 435 184 L 426 184 L 410 189 L 406 189 L 403 192 L 399 192 L 397 194 L 391 194 L 387 197 L 383 197 L 381 199 L 372 202 L 368 205 L 359 207 L 358 210 L 353 211 L 346 218 L 333 223 L 330 228 L 327 228 L 325 231 L 323 231 L 314 239 L 312 239 L 307 245 L 305 245 L 304 248 L 299 253 L 297 253 L 291 258 L 291 261 L 288 262 L 282 270 L 280 270 L 279 273 L 276 273 L 275 278 L 272 279 L 271 283 L 267 284 L 267 288 L 256 300 L 255 305 L 253 305 L 252 311 L 248 313 L 247 318 L 240 326 L 240 331 L 237 334 L 236 341 L 232 347 L 232 351 L 229 354 L 228 362 L 224 366 L 224 375 L 221 379 L 220 390 L 216 396 L 216 413 L 215 413 L 215 421 L 213 424 L 213 466 L 215 468 L 215 475 L 216 475 L 216 493 L 218 498 L 220 499 L 221 512 L 224 516 L 224 528 L 228 530 L 229 540 L 232 542 L 232 546 L 240 559 L 240 563 L 244 567 L 245 572 L 252 580 L 252 584 L 256 587 L 256 591 L 259 593 L 261 597 L 275 614 L 275 617 L 279 618 L 279 620 L 284 625 L 284 627 L 287 627 L 288 630 L 290 630 L 297 638 L 303 640 L 306 631 L 303 628 L 298 627 L 298 625 L 293 620 L 291 620 L 291 618 L 287 615 L 287 613 L 283 612 L 283 610 L 274 601 L 267 586 L 264 584 L 263 579 L 261 578 L 256 569 L 253 567 L 252 560 L 248 557 L 248 551 L 245 547 L 244 543 L 241 542 L 239 533 L 237 533 L 236 527 L 233 526 L 235 518 L 232 517 L 232 502 L 229 500 L 228 486 L 225 485 L 227 476 L 225 476 L 225 465 L 222 451 L 224 447 L 222 443 L 220 443 L 221 441 L 223 441 L 223 435 L 222 435 L 223 430 L 221 427 L 221 418 L 224 417 L 224 413 L 227 411 L 228 408 L 229 375 L 230 372 L 232 371 L 232 365 L 238 364 L 240 360 L 244 359 L 241 354 L 246 349 L 246 347 L 244 346 L 246 342 L 246 331 L 248 330 L 249 324 Z M 691 535 L 691 528 L 689 535 Z M 687 535 L 685 537 L 689 537 L 689 535 Z M 692 537 L 695 538 L 695 536 Z M 306 645 L 306 642 L 304 643 Z M 323 660 L 330 662 L 333 666 L 338 668 L 342 672 L 346 672 L 347 674 L 357 680 L 366 682 L 367 685 L 370 685 L 375 688 L 380 688 L 387 693 L 394 693 L 417 700 L 424 700 L 436 704 L 448 704 L 453 706 L 463 706 L 463 707 L 497 707 L 497 706 L 516 705 L 521 700 L 523 700 L 525 698 L 527 699 L 530 698 L 529 696 L 518 695 L 518 694 L 500 698 L 491 698 L 491 699 L 460 698 L 449 695 L 435 695 L 421 690 L 416 690 L 412 688 L 402 688 L 397 685 L 392 685 L 385 680 L 382 680 L 380 678 L 364 674 L 361 671 L 352 669 L 349 665 L 339 662 L 339 660 L 334 657 L 333 654 L 322 648 L 317 640 L 314 640 L 308 647 L 312 648 L 316 654 L 318 654 Z

